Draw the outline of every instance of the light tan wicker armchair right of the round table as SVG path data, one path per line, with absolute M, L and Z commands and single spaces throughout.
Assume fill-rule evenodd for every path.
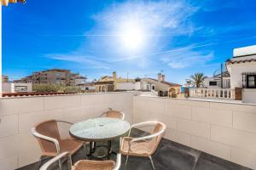
M 154 126 L 153 132 L 148 136 L 143 136 L 140 138 L 131 138 L 131 129 L 133 127 L 146 127 Z M 126 156 L 125 169 L 129 156 L 143 156 L 150 159 L 151 165 L 154 168 L 154 162 L 152 160 L 152 155 L 160 143 L 160 139 L 163 137 L 166 131 L 166 125 L 162 122 L 141 122 L 131 126 L 128 137 L 125 137 L 121 141 L 120 152 L 122 155 Z

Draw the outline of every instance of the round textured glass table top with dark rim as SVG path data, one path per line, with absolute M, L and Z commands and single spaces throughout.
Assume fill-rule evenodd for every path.
M 129 122 L 115 118 L 97 117 L 74 123 L 69 129 L 69 133 L 75 139 L 103 141 L 120 137 L 129 129 Z

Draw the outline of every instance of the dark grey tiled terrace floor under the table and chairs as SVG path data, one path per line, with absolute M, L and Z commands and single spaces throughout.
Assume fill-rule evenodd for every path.
M 137 136 L 136 131 L 133 135 Z M 140 135 L 142 135 L 140 133 Z M 83 150 L 73 156 L 73 161 L 84 159 Z M 115 160 L 113 155 L 111 159 Z M 248 170 L 247 167 L 241 167 L 230 161 L 225 161 L 216 156 L 208 155 L 200 150 L 194 150 L 182 144 L 177 144 L 167 139 L 162 139 L 158 150 L 154 156 L 154 166 L 156 170 Z M 122 158 L 122 167 L 124 169 L 125 157 Z M 22 167 L 19 170 L 36 169 L 37 164 Z M 131 157 L 128 161 L 127 170 L 151 170 L 148 158 Z

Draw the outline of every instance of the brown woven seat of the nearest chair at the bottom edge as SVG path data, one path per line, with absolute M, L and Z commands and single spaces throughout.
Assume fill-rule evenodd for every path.
M 73 165 L 72 170 L 113 170 L 114 166 L 114 161 L 81 160 Z

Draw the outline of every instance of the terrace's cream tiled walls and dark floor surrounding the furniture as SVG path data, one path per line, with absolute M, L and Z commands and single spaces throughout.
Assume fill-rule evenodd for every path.
M 79 122 L 99 116 L 108 107 L 125 112 L 131 124 L 150 120 L 166 124 L 165 139 L 153 156 L 156 169 L 256 169 L 256 105 L 137 92 L 0 99 L 0 169 L 34 169 L 41 156 L 30 132 L 35 123 Z M 68 127 L 61 129 L 61 136 L 67 135 Z M 79 151 L 75 160 L 84 159 L 82 154 Z M 148 159 L 131 157 L 127 169 L 149 168 Z

